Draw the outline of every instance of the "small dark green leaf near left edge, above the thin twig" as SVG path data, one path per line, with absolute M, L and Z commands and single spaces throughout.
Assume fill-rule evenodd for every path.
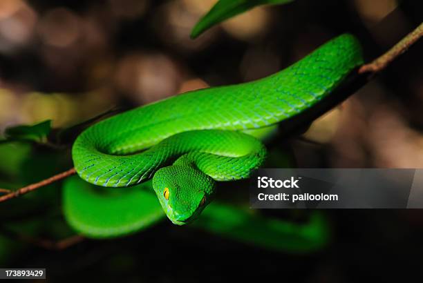
M 8 140 L 46 142 L 50 130 L 51 120 L 46 120 L 32 126 L 22 125 L 6 128 L 4 134 Z

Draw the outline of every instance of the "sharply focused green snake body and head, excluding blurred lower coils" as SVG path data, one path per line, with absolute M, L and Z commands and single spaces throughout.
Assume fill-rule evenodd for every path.
M 247 178 L 261 166 L 265 146 L 244 132 L 311 108 L 362 62 L 359 42 L 345 34 L 269 77 L 186 92 L 115 115 L 77 137 L 75 169 L 86 182 L 107 187 L 153 177 L 167 217 L 185 224 L 212 200 L 216 181 Z

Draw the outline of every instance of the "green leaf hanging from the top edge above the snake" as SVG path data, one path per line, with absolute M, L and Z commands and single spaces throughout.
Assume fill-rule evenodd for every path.
M 196 38 L 212 26 L 260 5 L 282 5 L 294 0 L 219 0 L 191 31 Z

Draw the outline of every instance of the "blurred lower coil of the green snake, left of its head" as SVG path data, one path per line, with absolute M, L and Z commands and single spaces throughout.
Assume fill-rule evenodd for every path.
M 166 217 L 150 190 L 151 181 L 129 188 L 104 188 L 73 176 L 64 183 L 64 215 L 86 237 L 135 233 Z

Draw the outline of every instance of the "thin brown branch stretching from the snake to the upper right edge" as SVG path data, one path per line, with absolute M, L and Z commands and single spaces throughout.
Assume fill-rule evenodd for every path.
M 401 39 L 400 42 L 395 44 L 393 48 L 388 50 L 384 55 L 378 57 L 377 59 L 373 60 L 369 64 L 364 64 L 359 69 L 359 73 L 362 74 L 364 72 L 380 72 L 384 70 L 388 64 L 390 64 L 393 60 L 395 60 L 398 56 L 404 53 L 410 46 L 413 45 L 420 37 L 423 36 L 423 23 L 420 23 L 413 32 L 410 32 L 406 37 Z

